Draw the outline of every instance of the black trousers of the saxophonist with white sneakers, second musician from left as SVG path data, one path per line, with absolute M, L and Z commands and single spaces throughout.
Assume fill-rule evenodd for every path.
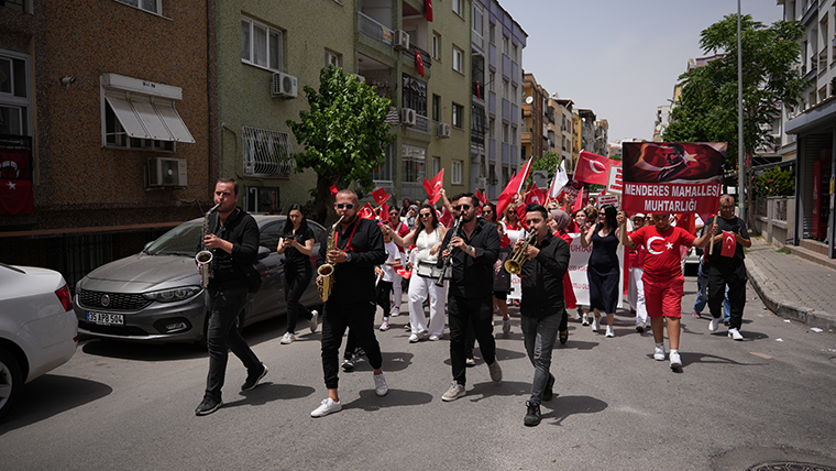
M 369 364 L 378 369 L 383 364 L 381 346 L 374 336 L 374 314 L 377 310 L 373 302 L 342 303 L 329 300 L 322 316 L 322 373 L 326 387 L 336 390 L 339 383 L 340 344 L 345 329 L 356 335 L 360 346 L 365 350 Z

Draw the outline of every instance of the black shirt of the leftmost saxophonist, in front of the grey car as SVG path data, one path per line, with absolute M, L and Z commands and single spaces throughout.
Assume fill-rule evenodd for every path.
M 209 287 L 223 289 L 248 286 L 244 270 L 251 267 L 258 256 L 258 224 L 255 219 L 237 207 L 223 226 L 220 224 L 220 216 L 212 213 L 209 217 L 209 228 L 215 236 L 232 242 L 232 253 L 221 249 L 212 250 L 212 278 Z

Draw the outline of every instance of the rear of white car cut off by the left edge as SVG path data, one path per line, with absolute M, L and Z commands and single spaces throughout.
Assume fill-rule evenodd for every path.
M 78 321 L 61 273 L 0 263 L 0 418 L 24 383 L 76 352 Z

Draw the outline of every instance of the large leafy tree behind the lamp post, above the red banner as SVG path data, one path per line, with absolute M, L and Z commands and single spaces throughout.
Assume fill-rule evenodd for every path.
M 744 146 L 747 154 L 774 144 L 771 124 L 780 105 L 793 107 L 803 97 L 804 79 L 794 70 L 801 55 L 801 22 L 771 26 L 741 18 Z M 682 94 L 671 111 L 663 138 L 670 142 L 727 142 L 727 168 L 738 156 L 737 15 L 703 30 L 700 46 L 722 56 L 680 76 Z

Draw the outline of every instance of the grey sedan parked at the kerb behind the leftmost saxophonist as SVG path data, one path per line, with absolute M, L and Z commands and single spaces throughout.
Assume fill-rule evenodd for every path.
M 276 253 L 284 236 L 284 216 L 253 215 L 258 223 L 256 270 L 262 287 L 250 294 L 239 317 L 243 328 L 287 311 L 284 293 L 284 255 Z M 184 222 L 131 256 L 102 265 L 76 284 L 78 331 L 92 337 L 142 342 L 199 342 L 205 340 L 207 294 L 200 286 L 195 254 L 200 247 L 204 218 Z M 322 226 L 308 221 L 316 245 L 316 267 Z M 300 299 L 321 304 L 311 280 Z

